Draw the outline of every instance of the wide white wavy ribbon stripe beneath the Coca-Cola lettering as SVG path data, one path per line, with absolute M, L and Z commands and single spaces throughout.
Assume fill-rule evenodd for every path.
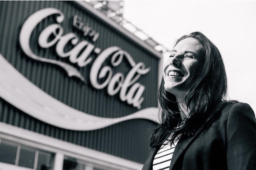
M 151 107 L 120 118 L 103 118 L 78 111 L 61 103 L 21 75 L 0 54 L 0 97 L 21 111 L 56 127 L 95 130 L 129 119 L 159 122 L 158 108 Z

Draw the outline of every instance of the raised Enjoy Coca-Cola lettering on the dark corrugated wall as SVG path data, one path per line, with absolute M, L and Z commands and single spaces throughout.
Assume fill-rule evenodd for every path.
M 93 61 L 89 80 L 91 85 L 95 89 L 107 88 L 109 95 L 116 95 L 119 92 L 119 98 L 121 101 L 132 104 L 132 106 L 140 109 L 143 102 L 143 92 L 145 86 L 137 82 L 141 75 L 145 75 L 150 71 L 150 68 L 146 68 L 143 62 L 136 63 L 132 56 L 117 46 L 110 46 L 104 50 L 95 47 L 94 44 L 89 41 L 83 40 L 79 42 L 79 38 L 75 33 L 67 33 L 63 35 L 63 27 L 61 22 L 64 20 L 64 14 L 55 8 L 46 8 L 39 10 L 32 14 L 23 24 L 20 31 L 20 46 L 23 52 L 30 58 L 55 64 L 62 67 L 69 77 L 78 77 L 82 82 L 85 82 L 84 77 L 80 74 L 78 69 L 72 65 L 56 61 L 53 59 L 47 59 L 42 56 L 37 56 L 30 48 L 31 34 L 35 27 L 46 17 L 56 15 L 56 22 L 45 27 L 39 34 L 38 44 L 41 48 L 50 48 L 56 45 L 55 51 L 58 57 L 69 58 L 69 61 L 73 64 L 77 64 L 78 67 L 85 67 L 93 61 L 90 54 L 95 53 L 97 58 Z M 83 32 L 84 36 L 88 36 L 92 42 L 96 41 L 99 37 L 99 33 L 89 27 L 88 24 L 83 23 L 81 18 L 75 15 L 73 17 L 73 26 Z M 54 37 L 49 41 L 49 37 Z M 71 42 L 73 48 L 70 51 L 64 51 L 65 46 Z M 36 42 L 35 42 L 36 43 Z M 110 65 L 102 67 L 105 61 L 110 59 Z M 113 74 L 113 67 L 121 64 L 123 59 L 126 59 L 131 66 L 129 73 L 124 76 L 123 73 L 118 72 Z M 105 64 L 104 64 L 105 65 Z M 103 79 L 104 82 L 98 80 Z

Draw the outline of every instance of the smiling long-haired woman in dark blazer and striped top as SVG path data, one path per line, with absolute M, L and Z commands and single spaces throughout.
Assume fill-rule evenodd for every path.
M 143 169 L 256 169 L 256 120 L 246 103 L 225 101 L 221 54 L 205 35 L 178 39 L 163 61 L 161 123 Z

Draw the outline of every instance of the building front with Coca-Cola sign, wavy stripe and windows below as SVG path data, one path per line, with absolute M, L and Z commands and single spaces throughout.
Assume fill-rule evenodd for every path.
M 0 9 L 0 169 L 141 169 L 162 54 L 85 1 Z

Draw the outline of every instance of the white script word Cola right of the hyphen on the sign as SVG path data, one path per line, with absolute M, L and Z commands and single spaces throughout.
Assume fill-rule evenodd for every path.
M 114 52 L 115 54 L 113 54 Z M 105 66 L 100 70 L 101 65 L 111 54 L 113 54 L 111 58 L 111 64 L 114 67 L 118 66 L 121 63 L 123 56 L 125 56 L 127 60 L 130 61 L 132 64 L 135 63 L 132 57 L 126 51 L 122 51 L 119 47 L 109 47 L 104 51 L 102 51 L 101 54 L 99 54 L 99 56 L 91 66 L 91 71 L 90 71 L 91 85 L 96 89 L 102 89 L 108 85 L 109 95 L 114 95 L 121 89 L 120 90 L 121 101 L 127 101 L 128 104 L 132 104 L 134 107 L 137 107 L 138 109 L 140 109 L 141 108 L 140 104 L 144 100 L 144 98 L 141 96 L 143 94 L 143 91 L 145 90 L 145 86 L 135 82 L 140 78 L 141 75 L 148 73 L 150 69 L 149 68 L 145 69 L 144 64 L 140 62 L 136 64 L 129 71 L 125 79 L 124 79 L 124 75 L 121 73 L 116 73 L 116 75 L 112 77 L 113 72 L 111 67 Z M 116 57 L 119 57 L 119 58 L 115 62 Z M 95 75 L 98 75 L 99 78 L 103 78 L 106 75 L 108 75 L 108 77 L 106 78 L 105 82 L 103 82 L 102 84 L 99 84 L 97 81 L 97 76 Z M 116 89 L 114 89 L 114 86 L 116 83 L 118 84 L 118 86 L 116 87 Z M 131 88 L 127 92 L 127 89 L 130 86 Z

